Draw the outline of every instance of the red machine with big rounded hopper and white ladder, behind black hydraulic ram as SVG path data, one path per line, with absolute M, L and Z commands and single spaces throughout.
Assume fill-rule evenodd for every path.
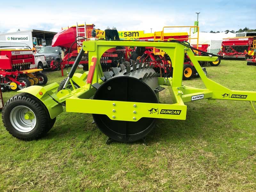
M 51 68 L 57 68 L 59 65 L 63 76 L 63 68 L 67 65 L 74 64 L 74 61 L 82 48 L 83 42 L 87 38 L 92 38 L 92 32 L 95 33 L 96 39 L 119 39 L 115 28 L 107 28 L 103 31 L 94 29 L 94 27 L 94 24 L 76 23 L 76 26 L 62 29 L 57 33 L 53 38 L 52 46 L 59 46 L 62 48 L 62 60 L 60 64 L 56 63 L 56 61 L 52 61 Z M 76 43 L 74 43 L 74 41 L 76 41 Z M 128 57 L 125 52 L 127 52 L 127 48 L 124 47 L 111 48 L 106 51 L 100 59 L 103 71 L 109 70 L 112 66 L 116 67 L 120 61 L 125 60 L 124 58 L 127 60 Z M 83 65 L 84 70 L 88 70 L 88 52 L 84 53 L 79 64 Z

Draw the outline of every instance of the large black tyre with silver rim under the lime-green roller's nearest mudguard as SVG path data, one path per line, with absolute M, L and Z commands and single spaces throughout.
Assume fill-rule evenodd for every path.
M 29 122 L 32 122 L 32 120 L 21 120 L 20 116 L 22 116 L 23 113 L 22 111 L 19 111 L 21 110 L 19 108 L 29 108 L 34 113 L 35 117 L 32 120 L 36 120 L 35 123 L 31 125 L 34 126 L 32 130 L 30 130 L 31 127 L 29 127 Z M 16 113 L 14 113 L 13 110 L 16 110 Z M 52 126 L 52 121 L 50 121 L 51 118 L 45 105 L 35 96 L 30 95 L 28 93 L 21 93 L 11 97 L 4 104 L 2 119 L 6 130 L 12 136 L 20 140 L 39 139 L 42 136 L 44 136 L 50 130 L 50 126 Z M 19 123 L 21 124 L 21 126 L 18 126 L 17 128 L 17 125 L 19 125 Z M 18 130 L 23 128 L 22 125 L 24 125 L 24 127 L 28 125 L 27 130 L 25 128 L 23 129 L 24 131 Z

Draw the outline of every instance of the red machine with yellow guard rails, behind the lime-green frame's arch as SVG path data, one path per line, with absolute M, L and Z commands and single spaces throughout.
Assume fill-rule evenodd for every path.
M 181 33 L 164 33 L 164 28 L 190 28 L 190 34 L 188 35 L 187 32 Z M 197 44 L 192 45 L 194 47 L 195 55 L 205 55 L 204 52 L 207 52 L 208 44 L 198 44 L 198 36 L 197 38 L 189 38 L 191 35 L 192 28 L 198 28 L 196 26 L 175 26 L 175 27 L 164 27 L 162 31 L 145 34 L 144 37 L 139 38 L 143 41 L 170 41 L 170 40 L 177 40 L 179 42 L 188 41 L 190 39 L 197 39 Z M 199 28 L 198 28 L 199 30 Z M 199 33 L 198 33 L 199 34 Z M 142 52 L 143 48 L 139 48 L 133 52 L 131 59 L 137 60 L 138 56 L 140 60 L 148 61 L 153 64 L 155 67 L 155 71 L 160 73 L 160 76 L 170 77 L 172 76 L 172 60 L 171 58 L 165 54 L 160 49 L 156 49 L 155 47 L 145 47 L 145 52 Z M 205 61 L 200 61 L 200 64 L 203 66 Z M 212 66 L 218 66 L 220 64 L 220 59 L 214 62 L 210 62 Z M 207 74 L 206 68 L 203 68 L 205 75 Z M 183 80 L 191 79 L 192 77 L 199 77 L 196 68 L 194 67 L 193 63 L 191 62 L 188 54 L 185 53 L 184 57 L 184 71 L 183 71 Z

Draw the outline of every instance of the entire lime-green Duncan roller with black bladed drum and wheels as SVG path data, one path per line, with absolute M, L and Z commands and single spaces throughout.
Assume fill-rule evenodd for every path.
M 135 63 L 102 72 L 101 55 L 116 46 L 156 47 L 172 60 L 172 78 L 158 77 L 149 63 Z M 84 52 L 89 53 L 89 71 L 75 73 Z M 188 54 L 205 89 L 182 84 L 184 54 Z M 88 40 L 78 54 L 68 78 L 61 85 L 31 86 L 20 90 L 3 108 L 4 126 L 14 137 L 33 140 L 45 135 L 63 112 L 90 113 L 99 129 L 110 139 L 133 142 L 143 139 L 155 126 L 156 119 L 186 119 L 185 102 L 209 100 L 253 102 L 256 92 L 230 90 L 207 78 L 198 61 L 216 61 L 218 57 L 195 56 L 185 42 Z M 172 104 L 159 103 L 158 93 L 168 86 Z M 58 92 L 56 93 L 57 89 Z

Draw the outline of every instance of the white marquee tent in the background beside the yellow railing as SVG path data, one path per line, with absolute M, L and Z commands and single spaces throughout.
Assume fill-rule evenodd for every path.
M 198 44 L 209 44 L 210 46 L 207 49 L 207 52 L 217 54 L 221 49 L 221 43 L 223 38 L 235 37 L 235 33 L 225 32 L 222 33 L 205 33 L 199 32 L 199 41 Z M 191 35 L 191 38 L 196 38 L 197 33 Z M 190 44 L 196 44 L 196 39 L 191 39 Z

